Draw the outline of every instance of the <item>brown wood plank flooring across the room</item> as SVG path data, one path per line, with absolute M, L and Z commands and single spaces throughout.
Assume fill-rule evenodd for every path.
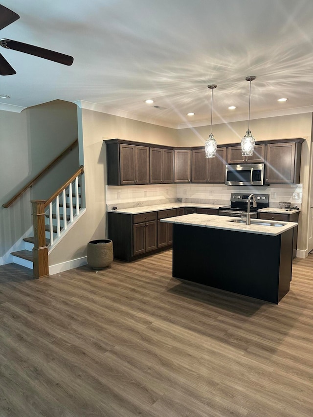
M 172 278 L 171 251 L 0 266 L 0 417 L 309 417 L 312 389 L 313 255 L 278 305 Z

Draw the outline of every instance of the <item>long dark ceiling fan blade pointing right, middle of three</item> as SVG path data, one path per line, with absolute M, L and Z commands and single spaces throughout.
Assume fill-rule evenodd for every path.
M 0 39 L 0 45 L 4 48 L 24 52 L 25 54 L 35 55 L 40 58 L 48 59 L 49 61 L 58 62 L 59 64 L 72 65 L 74 61 L 74 58 L 69 55 L 50 51 L 49 49 L 40 48 L 39 46 L 12 41 L 11 39 Z

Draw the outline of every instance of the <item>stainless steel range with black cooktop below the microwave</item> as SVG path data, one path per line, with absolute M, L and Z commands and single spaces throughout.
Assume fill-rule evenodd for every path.
M 231 193 L 230 206 L 220 207 L 220 216 L 233 216 L 243 217 L 246 215 L 248 207 L 248 198 L 251 193 Z M 253 193 L 254 194 L 254 193 Z M 257 207 L 253 207 L 252 201 L 250 201 L 250 215 L 251 218 L 256 219 L 258 217 L 257 211 L 261 208 L 269 207 L 269 194 L 254 194 Z

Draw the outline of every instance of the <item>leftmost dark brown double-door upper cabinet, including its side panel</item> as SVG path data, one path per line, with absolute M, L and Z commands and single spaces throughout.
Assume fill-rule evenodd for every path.
M 106 141 L 108 185 L 149 184 L 149 147 Z

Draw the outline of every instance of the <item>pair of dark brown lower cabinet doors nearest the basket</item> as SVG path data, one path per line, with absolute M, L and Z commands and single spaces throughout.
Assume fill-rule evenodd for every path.
M 156 249 L 156 220 L 133 226 L 133 255 L 149 252 Z

